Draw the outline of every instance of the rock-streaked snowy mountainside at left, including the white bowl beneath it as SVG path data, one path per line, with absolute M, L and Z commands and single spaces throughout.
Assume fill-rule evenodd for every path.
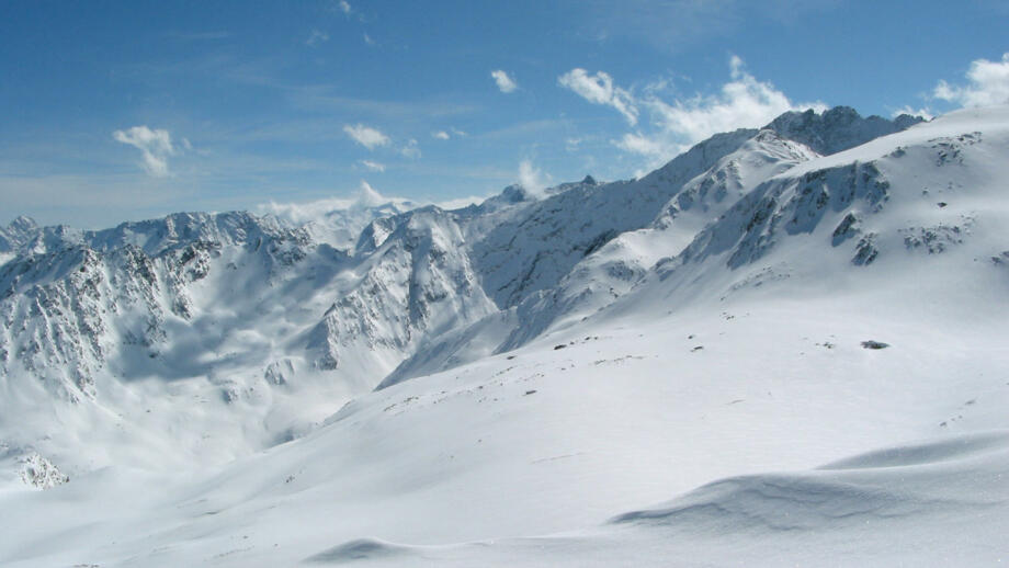
M 76 474 L 162 455 L 223 463 L 307 431 L 423 332 L 492 307 L 450 215 L 390 213 L 354 213 L 390 226 L 362 251 L 318 240 L 338 232 L 318 223 L 246 213 L 103 231 L 15 221 L 27 229 L 0 265 L 0 441 Z M 109 447 L 81 424 L 133 440 Z

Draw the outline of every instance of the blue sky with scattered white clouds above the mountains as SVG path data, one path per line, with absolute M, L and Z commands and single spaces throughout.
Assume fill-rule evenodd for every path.
M 787 109 L 1005 101 L 1006 30 L 998 0 L 15 0 L 0 223 L 630 178 Z

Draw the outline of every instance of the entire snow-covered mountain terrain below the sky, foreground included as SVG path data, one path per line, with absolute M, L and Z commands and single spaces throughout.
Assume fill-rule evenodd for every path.
M 1009 107 L 906 118 L 355 241 L 19 219 L 0 565 L 1007 563 Z

